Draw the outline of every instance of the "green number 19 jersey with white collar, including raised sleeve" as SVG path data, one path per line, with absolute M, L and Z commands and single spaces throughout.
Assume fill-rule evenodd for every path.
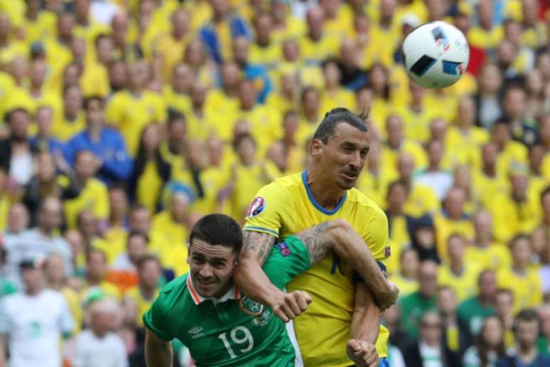
M 297 238 L 274 246 L 264 272 L 279 289 L 310 267 Z M 183 275 L 161 289 L 144 324 L 164 341 L 179 339 L 197 366 L 293 366 L 295 351 L 285 324 L 269 307 L 243 297 L 235 287 L 220 299 L 205 299 Z

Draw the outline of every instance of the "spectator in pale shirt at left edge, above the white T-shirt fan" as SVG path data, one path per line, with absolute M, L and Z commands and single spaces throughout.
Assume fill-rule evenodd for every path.
M 63 206 L 58 198 L 45 198 L 38 212 L 38 226 L 20 235 L 6 239 L 8 259 L 6 272 L 9 277 L 20 284 L 18 264 L 29 256 L 46 257 L 55 252 L 63 257 L 66 275 L 72 274 L 72 258 L 68 243 L 57 234 L 63 221 Z

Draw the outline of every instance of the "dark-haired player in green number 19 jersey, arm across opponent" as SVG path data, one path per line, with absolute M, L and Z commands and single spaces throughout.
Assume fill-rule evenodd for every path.
M 330 250 L 360 268 L 360 260 L 370 254 L 364 243 L 346 240 L 340 224 L 322 223 L 275 245 L 263 267 L 269 280 L 283 289 Z M 172 366 L 169 341 L 174 338 L 188 347 L 197 366 L 294 366 L 296 353 L 283 321 L 234 286 L 241 247 L 241 228 L 232 218 L 210 214 L 195 224 L 190 233 L 190 272 L 166 284 L 144 314 L 149 367 Z M 311 302 L 301 291 L 285 298 L 284 307 L 296 315 Z M 375 363 L 374 346 L 356 342 L 366 365 Z

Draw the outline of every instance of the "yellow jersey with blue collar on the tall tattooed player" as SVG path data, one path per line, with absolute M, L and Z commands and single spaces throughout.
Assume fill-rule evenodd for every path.
M 286 238 L 327 220 L 344 219 L 360 233 L 372 255 L 386 260 L 388 224 L 384 212 L 356 188 L 328 211 L 313 198 L 306 171 L 277 179 L 257 193 L 263 209 L 247 217 L 244 230 Z M 298 344 L 306 366 L 350 366 L 345 350 L 350 339 L 354 305 L 352 269 L 334 255 L 325 257 L 303 275 L 287 284 L 289 292 L 301 289 L 313 299 L 308 310 L 294 320 Z M 312 330 L 323 330 L 312 332 Z M 386 356 L 389 333 L 380 326 L 377 351 Z

